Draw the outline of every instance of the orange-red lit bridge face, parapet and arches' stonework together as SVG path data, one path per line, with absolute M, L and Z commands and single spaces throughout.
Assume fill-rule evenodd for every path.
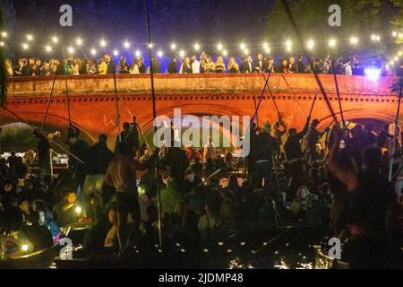
M 270 91 L 288 127 L 304 126 L 304 114 L 309 114 L 315 93 L 318 98 L 313 117 L 322 120 L 321 126 L 332 121 L 330 111 L 313 74 L 271 74 Z M 266 74 L 266 77 L 268 74 Z M 24 77 L 8 79 L 7 107 L 26 122 L 42 123 L 54 77 Z M 320 75 L 331 106 L 339 113 L 339 103 L 333 75 Z M 288 88 L 288 85 L 290 89 Z M 385 122 L 394 120 L 397 93 L 390 91 L 392 77 L 372 82 L 364 76 L 338 75 L 341 104 L 346 119 L 373 118 Z M 175 108 L 182 114 L 217 116 L 253 116 L 264 86 L 262 74 L 156 74 L 157 115 L 172 117 Z M 116 74 L 121 123 L 137 116 L 141 129 L 152 126 L 150 75 Z M 93 140 L 104 133 L 115 139 L 116 101 L 113 75 L 77 75 L 67 77 L 71 119 L 74 126 Z M 304 110 L 298 107 L 297 99 Z M 20 121 L 2 109 L 0 124 Z M 338 114 L 339 117 L 339 114 Z M 278 120 L 277 111 L 266 90 L 258 114 L 259 122 Z M 50 102 L 47 124 L 68 126 L 64 76 L 57 76 Z M 403 124 L 403 123 L 400 123 Z

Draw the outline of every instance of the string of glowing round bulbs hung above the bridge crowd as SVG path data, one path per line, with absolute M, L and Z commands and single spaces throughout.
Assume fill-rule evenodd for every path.
M 17 41 L 10 41 L 10 35 L 7 31 L 1 31 L 0 33 L 0 47 L 5 47 L 7 43 L 11 44 L 17 44 L 21 47 L 22 51 L 27 51 L 30 49 L 31 44 L 34 43 L 35 37 L 32 34 L 26 34 L 23 37 L 23 41 L 17 42 Z M 379 34 L 371 34 L 369 37 L 362 38 L 370 40 L 373 42 L 373 44 L 380 44 L 382 42 L 382 36 Z M 387 37 L 384 37 L 387 38 Z M 403 39 L 403 32 L 398 32 L 398 31 L 392 31 L 391 32 L 391 38 L 392 39 Z M 56 36 L 50 37 L 47 41 L 47 43 L 43 46 L 44 51 L 47 54 L 51 54 L 56 50 L 56 46 L 59 44 L 59 38 Z M 285 48 L 287 52 L 292 52 L 295 47 L 294 43 L 291 40 L 287 40 L 284 42 L 262 42 L 260 44 L 256 43 L 245 43 L 245 42 L 240 42 L 237 44 L 224 44 L 223 42 L 219 41 L 217 44 L 201 44 L 199 42 L 195 42 L 193 44 L 177 44 L 176 42 L 172 42 L 169 45 L 163 45 L 163 44 L 157 44 L 157 43 L 134 43 L 130 42 L 129 39 L 125 39 L 122 43 L 119 49 L 113 45 L 111 45 L 107 39 L 101 38 L 99 39 L 98 43 L 95 45 L 85 45 L 85 39 L 82 39 L 81 37 L 77 37 L 73 41 L 69 41 L 70 43 L 74 43 L 74 45 L 70 45 L 68 47 L 65 47 L 65 51 L 69 54 L 74 54 L 75 52 L 83 52 L 83 51 L 88 51 L 90 52 L 90 55 L 93 57 L 96 57 L 98 55 L 101 55 L 102 53 L 105 53 L 106 51 L 112 52 L 112 54 L 115 57 L 118 57 L 120 55 L 123 55 L 125 52 L 130 51 L 133 47 L 136 47 L 133 49 L 133 55 L 135 57 L 141 57 L 141 49 L 143 48 L 158 48 L 156 50 L 156 55 L 158 57 L 164 57 L 167 53 L 164 52 L 163 48 L 165 47 L 171 54 L 177 54 L 179 57 L 185 57 L 187 53 L 193 53 L 193 52 L 201 52 L 203 49 L 214 49 L 216 52 L 219 52 L 220 56 L 222 57 L 227 57 L 229 55 L 229 50 L 235 52 L 241 52 L 243 53 L 244 56 L 250 56 L 251 50 L 253 49 L 260 49 L 262 52 L 269 54 L 272 50 L 272 48 Z M 304 44 L 306 45 L 305 47 L 308 50 L 313 50 L 315 47 L 319 46 L 321 48 L 327 47 L 327 48 L 336 48 L 338 45 L 351 45 L 353 48 L 358 48 L 360 43 L 360 38 L 356 36 L 351 36 L 349 39 L 336 39 L 336 38 L 330 38 L 328 40 L 319 40 L 315 41 L 314 39 L 308 39 Z M 389 57 L 389 62 L 388 65 L 395 65 L 399 59 L 403 56 L 403 50 L 400 50 L 397 55 L 393 57 Z

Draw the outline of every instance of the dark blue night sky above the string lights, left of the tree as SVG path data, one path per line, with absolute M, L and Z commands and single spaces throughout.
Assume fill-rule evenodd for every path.
M 134 45 L 146 42 L 143 1 L 1 2 L 13 2 L 15 18 L 12 16 L 7 26 L 9 30 L 14 28 L 9 44 L 17 47 L 21 46 L 27 33 L 35 35 L 35 45 L 40 46 L 53 34 L 60 34 L 59 7 L 62 4 L 73 7 L 73 28 L 64 28 L 63 31 L 66 45 L 78 35 L 90 46 L 102 37 L 114 46 L 122 46 L 126 38 Z M 150 3 L 153 42 L 166 50 L 174 40 L 188 45 L 197 41 L 204 48 L 215 46 L 219 41 L 228 45 L 240 41 L 261 43 L 274 0 L 150 0 Z

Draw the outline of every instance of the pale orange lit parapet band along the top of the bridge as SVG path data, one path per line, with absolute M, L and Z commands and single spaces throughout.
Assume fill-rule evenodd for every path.
M 284 78 L 283 76 L 284 75 Z M 268 74 L 266 74 L 266 77 Z M 336 94 L 333 75 L 321 74 L 325 91 Z M 395 96 L 390 86 L 397 79 L 380 77 L 372 82 L 365 76 L 338 75 L 341 96 Z M 54 77 L 20 77 L 7 80 L 8 98 L 48 97 Z M 287 83 L 286 83 L 287 81 Z M 69 96 L 102 96 L 115 92 L 113 75 L 67 76 Z M 156 74 L 157 95 L 260 94 L 265 81 L 262 74 Z M 313 74 L 271 74 L 270 90 L 299 96 L 319 91 Z M 149 74 L 116 74 L 119 94 L 150 95 Z M 56 76 L 54 96 L 64 96 L 64 76 Z

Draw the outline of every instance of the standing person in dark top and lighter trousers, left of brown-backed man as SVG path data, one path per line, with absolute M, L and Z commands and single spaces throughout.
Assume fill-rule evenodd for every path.
M 83 187 L 87 217 L 93 217 L 96 212 L 103 209 L 102 187 L 107 174 L 107 166 L 113 156 L 114 154 L 107 148 L 107 135 L 103 134 L 99 135 L 98 143 L 91 146 L 87 152 Z M 91 198 L 94 198 L 94 204 L 90 204 Z

